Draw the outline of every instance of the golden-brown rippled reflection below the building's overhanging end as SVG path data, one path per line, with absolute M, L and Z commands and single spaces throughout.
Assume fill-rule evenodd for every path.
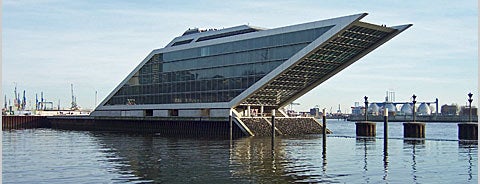
M 304 138 L 304 140 L 306 139 L 308 138 Z M 288 146 L 292 147 L 291 144 Z M 304 163 L 305 158 L 292 156 L 295 153 L 290 152 L 292 150 L 287 152 L 286 147 L 284 138 L 280 137 L 275 138 L 274 150 L 271 149 L 271 138 L 269 137 L 248 137 L 236 140 L 230 158 L 232 176 L 234 178 L 255 178 L 249 181 L 254 183 L 319 182 L 322 180 L 321 175 L 314 174 L 315 167 L 313 165 Z M 320 153 L 318 155 L 320 156 Z

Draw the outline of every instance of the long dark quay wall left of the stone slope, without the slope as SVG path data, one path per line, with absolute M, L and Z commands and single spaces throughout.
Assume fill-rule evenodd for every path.
M 78 131 L 155 133 L 162 136 L 229 137 L 225 118 L 135 118 L 90 116 L 2 116 L 2 130 L 52 128 Z M 232 136 L 246 134 L 236 124 Z

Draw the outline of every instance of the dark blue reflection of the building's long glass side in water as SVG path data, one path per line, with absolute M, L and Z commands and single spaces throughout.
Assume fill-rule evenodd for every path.
M 120 180 L 154 183 L 228 182 L 228 141 L 163 138 L 153 134 L 92 133 Z M 221 142 L 222 144 L 218 143 Z M 222 171 L 222 172 L 218 172 Z

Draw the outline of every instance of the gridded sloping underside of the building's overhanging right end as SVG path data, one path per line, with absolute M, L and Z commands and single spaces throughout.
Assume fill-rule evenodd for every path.
M 262 89 L 242 102 L 242 105 L 262 104 L 275 106 L 286 104 L 303 89 L 314 85 L 321 78 L 334 73 L 352 58 L 372 47 L 392 32 L 368 28 L 365 23 L 351 26 L 324 43 L 288 71 L 277 76 Z M 362 27 L 363 26 L 363 27 Z

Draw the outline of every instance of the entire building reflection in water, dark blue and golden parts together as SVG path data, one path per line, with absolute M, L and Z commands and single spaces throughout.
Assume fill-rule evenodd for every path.
M 287 158 L 282 139 L 165 138 L 93 132 L 119 180 L 154 183 L 292 183 L 313 181 Z M 305 168 L 305 167 L 303 167 Z

